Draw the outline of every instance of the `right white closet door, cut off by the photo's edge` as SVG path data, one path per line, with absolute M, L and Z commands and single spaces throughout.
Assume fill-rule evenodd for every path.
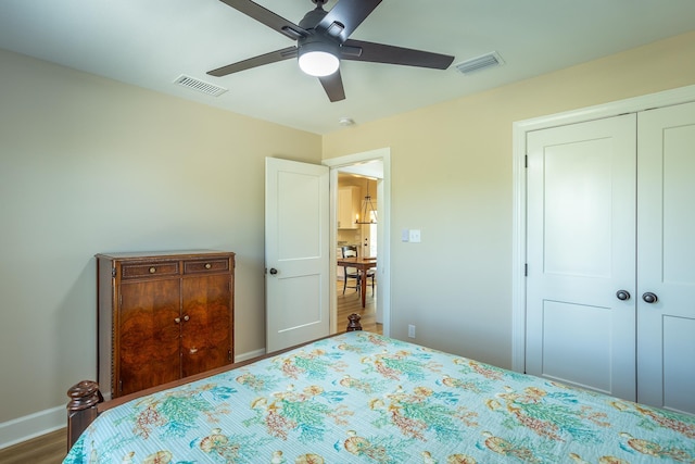
M 640 113 L 637 140 L 637 400 L 695 414 L 695 103 Z

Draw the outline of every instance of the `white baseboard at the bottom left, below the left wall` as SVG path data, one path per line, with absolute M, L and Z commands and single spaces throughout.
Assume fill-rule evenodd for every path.
M 66 425 L 65 404 L 3 422 L 0 424 L 0 449 L 65 428 Z

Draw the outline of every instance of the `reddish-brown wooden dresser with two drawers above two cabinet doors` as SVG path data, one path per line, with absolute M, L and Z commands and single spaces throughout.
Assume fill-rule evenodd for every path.
M 117 398 L 233 362 L 235 253 L 97 254 L 99 385 Z

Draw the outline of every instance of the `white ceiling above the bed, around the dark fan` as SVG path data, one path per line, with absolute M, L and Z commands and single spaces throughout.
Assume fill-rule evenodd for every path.
M 257 3 L 294 23 L 314 8 Z M 454 65 L 342 62 L 346 99 L 330 103 L 294 60 L 206 75 L 295 43 L 218 0 L 0 1 L 0 48 L 316 134 L 343 129 L 341 117 L 363 124 L 693 29 L 694 0 L 383 0 L 351 38 L 452 54 L 454 65 L 496 51 L 505 65 L 465 76 Z M 173 84 L 181 74 L 228 91 Z

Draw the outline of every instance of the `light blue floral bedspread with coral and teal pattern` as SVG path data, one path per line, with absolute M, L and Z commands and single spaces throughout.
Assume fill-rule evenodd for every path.
M 354 331 L 103 413 L 64 463 L 695 463 L 695 417 Z

